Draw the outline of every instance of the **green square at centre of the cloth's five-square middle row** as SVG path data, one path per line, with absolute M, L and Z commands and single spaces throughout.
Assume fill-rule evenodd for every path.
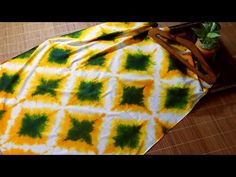
M 79 100 L 97 101 L 100 98 L 102 83 L 100 82 L 81 82 L 77 98 Z

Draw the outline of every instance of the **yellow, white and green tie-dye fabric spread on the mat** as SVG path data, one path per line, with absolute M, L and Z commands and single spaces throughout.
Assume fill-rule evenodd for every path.
M 2 154 L 147 152 L 209 88 L 148 36 L 151 24 L 103 23 L 1 64 Z

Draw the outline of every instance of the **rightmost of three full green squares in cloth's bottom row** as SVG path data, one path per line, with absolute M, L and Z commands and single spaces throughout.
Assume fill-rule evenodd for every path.
M 140 139 L 140 129 L 141 126 L 137 125 L 118 125 L 116 132 L 117 135 L 113 137 L 116 147 L 137 148 Z

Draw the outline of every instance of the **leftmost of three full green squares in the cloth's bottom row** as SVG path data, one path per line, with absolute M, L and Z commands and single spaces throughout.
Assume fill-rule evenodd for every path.
M 47 121 L 46 114 L 25 114 L 18 134 L 31 138 L 42 138 L 42 132 L 45 130 Z

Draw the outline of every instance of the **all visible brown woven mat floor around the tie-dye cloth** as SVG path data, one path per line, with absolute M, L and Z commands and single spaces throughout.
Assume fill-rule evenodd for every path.
M 50 37 L 96 24 L 99 22 L 0 23 L 0 63 Z M 178 23 L 160 23 L 173 24 Z M 236 23 L 221 24 L 222 41 L 236 61 Z M 236 154 L 236 89 L 204 97 L 147 154 Z

